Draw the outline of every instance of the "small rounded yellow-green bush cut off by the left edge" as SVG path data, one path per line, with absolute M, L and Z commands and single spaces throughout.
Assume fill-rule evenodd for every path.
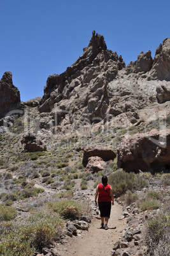
M 13 220 L 17 217 L 17 211 L 10 206 L 4 206 L 4 204 L 0 204 L 0 220 Z

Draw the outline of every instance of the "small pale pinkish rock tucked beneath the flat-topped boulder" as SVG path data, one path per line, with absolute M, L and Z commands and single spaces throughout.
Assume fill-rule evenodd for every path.
M 103 171 L 106 162 L 101 157 L 89 157 L 85 171 L 89 173 L 98 173 Z

